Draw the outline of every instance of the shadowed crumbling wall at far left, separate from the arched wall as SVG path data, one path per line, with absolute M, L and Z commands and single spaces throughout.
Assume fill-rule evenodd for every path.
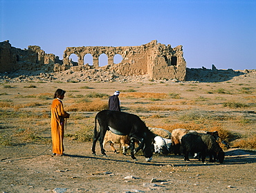
M 0 42 L 0 73 L 16 70 L 53 71 L 55 63 L 62 64 L 59 57 L 46 54 L 39 46 L 28 49 L 12 47 L 9 41 Z

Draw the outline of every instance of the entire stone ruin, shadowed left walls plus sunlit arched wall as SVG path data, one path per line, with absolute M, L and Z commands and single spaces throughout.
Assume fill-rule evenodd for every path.
M 99 66 L 99 57 L 104 53 L 108 57 L 106 66 Z M 77 55 L 77 64 L 70 59 Z M 90 54 L 93 64 L 84 64 L 84 56 Z M 122 61 L 113 63 L 115 55 L 121 55 Z M 67 47 L 63 60 L 53 54 L 46 54 L 39 46 L 28 46 L 21 50 L 10 45 L 9 41 L 0 42 L 0 73 L 24 69 L 26 71 L 57 72 L 87 71 L 89 69 L 114 71 L 123 76 L 149 75 L 151 79 L 185 80 L 186 62 L 182 46 L 157 43 L 156 40 L 141 46 L 82 46 Z

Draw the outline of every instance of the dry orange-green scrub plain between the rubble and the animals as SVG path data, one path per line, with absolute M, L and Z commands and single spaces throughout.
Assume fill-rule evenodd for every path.
M 108 98 L 118 89 L 122 111 L 137 114 L 148 127 L 169 131 L 178 128 L 217 130 L 221 140 L 234 147 L 255 149 L 256 134 L 250 129 L 255 127 L 255 116 L 246 113 L 255 108 L 254 84 L 225 85 L 3 84 L 0 89 L 0 145 L 51 143 L 51 102 L 55 89 L 62 88 L 67 91 L 64 108 L 71 113 L 68 128 L 73 130 L 66 131 L 66 137 L 71 140 L 91 140 L 95 113 L 108 109 Z M 149 89 L 145 89 L 147 87 Z M 239 112 L 232 109 L 239 109 Z

